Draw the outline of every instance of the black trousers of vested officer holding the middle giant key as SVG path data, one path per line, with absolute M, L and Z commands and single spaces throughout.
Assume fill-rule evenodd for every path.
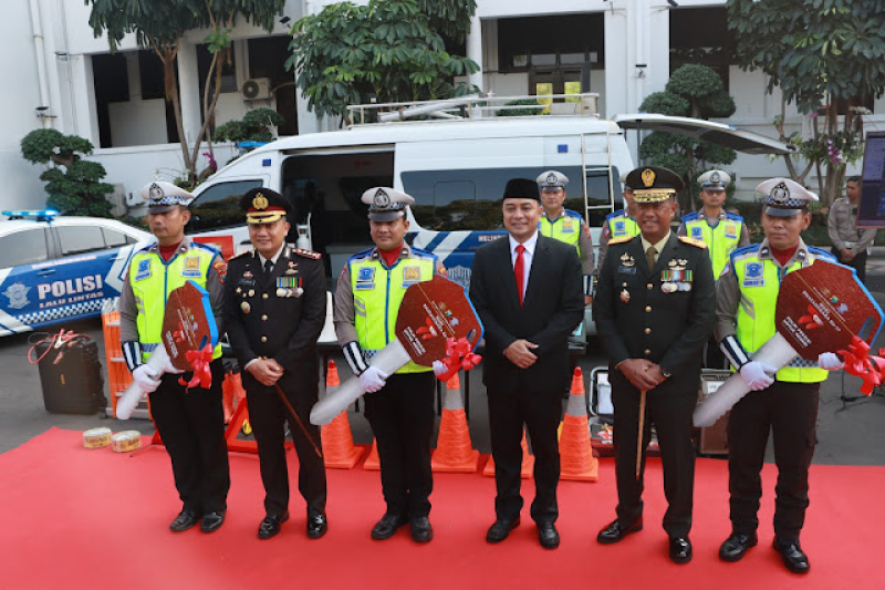
M 435 383 L 433 371 L 398 373 L 391 375 L 381 391 L 364 397 L 366 418 L 378 443 L 381 485 L 388 513 L 410 517 L 430 514 Z

